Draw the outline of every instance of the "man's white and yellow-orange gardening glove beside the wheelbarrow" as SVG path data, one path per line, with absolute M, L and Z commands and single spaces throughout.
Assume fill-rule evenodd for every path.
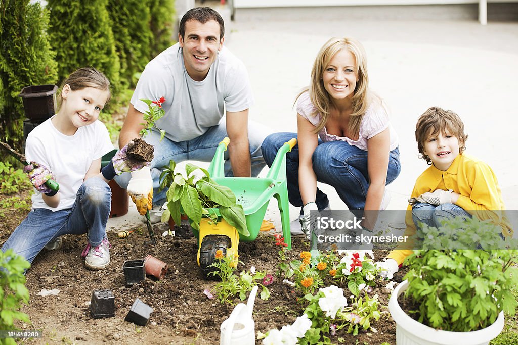
M 148 166 L 131 173 L 127 192 L 142 216 L 153 207 L 153 179 Z

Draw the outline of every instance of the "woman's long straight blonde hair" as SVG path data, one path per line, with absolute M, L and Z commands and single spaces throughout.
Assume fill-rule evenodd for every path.
M 381 99 L 369 90 L 367 55 L 362 43 L 358 42 L 354 38 L 332 37 L 324 44 L 324 46 L 322 46 L 322 48 L 320 48 L 320 51 L 316 55 L 313 68 L 311 69 L 309 86 L 304 88 L 297 96 L 298 99 L 300 95 L 309 91 L 311 103 L 316 108 L 313 115 L 320 113 L 322 116 L 320 123 L 314 130 L 315 133 L 318 133 L 326 125 L 331 106 L 331 98 L 324 87 L 322 76 L 333 56 L 342 49 L 350 51 L 356 59 L 355 72 L 358 79 L 352 97 L 352 113 L 348 125 L 349 132 L 359 132 L 363 116 L 373 100 L 377 100 L 381 103 Z

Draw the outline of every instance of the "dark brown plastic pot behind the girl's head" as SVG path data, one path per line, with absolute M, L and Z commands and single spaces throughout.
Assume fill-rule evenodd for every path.
M 18 95 L 23 100 L 25 116 L 33 121 L 41 121 L 56 112 L 56 85 L 32 85 L 22 89 Z

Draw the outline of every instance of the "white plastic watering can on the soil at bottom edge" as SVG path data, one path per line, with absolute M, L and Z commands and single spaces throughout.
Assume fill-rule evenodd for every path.
M 220 345 L 254 345 L 255 323 L 252 319 L 255 296 L 259 288 L 250 292 L 247 304 L 239 303 L 220 327 Z

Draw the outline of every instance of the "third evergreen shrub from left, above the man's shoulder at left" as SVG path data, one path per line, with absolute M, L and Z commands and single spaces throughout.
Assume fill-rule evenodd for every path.
M 107 8 L 112 21 L 115 48 L 121 63 L 121 84 L 134 86 L 133 75 L 146 67 L 151 56 L 149 7 L 141 0 L 108 0 Z

